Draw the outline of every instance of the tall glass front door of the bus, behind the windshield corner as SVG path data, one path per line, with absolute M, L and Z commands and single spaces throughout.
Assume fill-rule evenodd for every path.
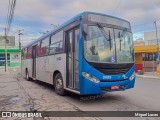
M 67 45 L 67 87 L 79 90 L 78 49 L 79 27 L 66 32 Z

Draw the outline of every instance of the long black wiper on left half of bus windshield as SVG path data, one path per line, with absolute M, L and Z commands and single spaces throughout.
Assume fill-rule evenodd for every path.
M 110 34 L 110 30 L 109 30 L 109 35 L 107 35 L 106 31 L 104 30 L 104 28 L 102 27 L 101 24 L 97 23 L 98 28 L 101 30 L 101 32 L 103 33 L 104 37 L 106 38 L 107 41 L 109 41 L 109 47 L 111 50 L 111 34 Z

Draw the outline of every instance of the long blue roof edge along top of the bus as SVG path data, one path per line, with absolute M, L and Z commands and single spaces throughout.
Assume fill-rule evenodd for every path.
M 22 49 L 28 47 L 28 46 L 31 46 L 32 44 L 44 39 L 45 37 L 47 37 L 48 35 L 64 28 L 65 26 L 67 26 L 68 24 L 71 24 L 72 22 L 74 22 L 75 20 L 78 20 L 80 19 L 82 16 L 84 16 L 85 14 L 97 14 L 97 15 L 103 15 L 103 16 L 108 16 L 108 17 L 112 17 L 112 18 L 115 18 L 115 19 L 119 19 L 119 20 L 123 20 L 125 22 L 128 22 L 124 19 L 121 19 L 121 18 L 118 18 L 118 17 L 114 17 L 114 16 L 111 16 L 111 15 L 107 15 L 107 14 L 103 14 L 103 13 L 97 13 L 97 12 L 88 12 L 88 11 L 85 11 L 85 12 L 81 12 L 79 14 L 77 14 L 76 16 L 74 16 L 73 18 L 69 19 L 67 22 L 63 23 L 62 25 L 58 26 L 57 28 L 55 28 L 54 30 L 46 33 L 45 35 L 41 36 L 40 38 L 34 40 L 33 42 L 30 42 L 28 43 L 27 45 L 25 45 L 24 47 L 22 47 Z

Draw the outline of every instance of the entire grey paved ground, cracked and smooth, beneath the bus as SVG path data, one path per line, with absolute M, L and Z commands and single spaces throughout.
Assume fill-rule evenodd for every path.
M 0 75 L 0 110 L 27 111 L 150 111 L 160 110 L 160 79 L 137 78 L 134 89 L 101 96 L 61 97 L 53 86 L 27 81 L 20 75 Z M 95 98 L 95 99 L 94 99 Z M 32 119 L 32 118 L 30 118 Z M 55 119 L 55 118 L 44 118 Z M 59 119 L 59 118 L 56 118 Z M 60 118 L 62 119 L 62 118 Z M 71 118 L 65 118 L 71 119 Z M 75 119 L 75 118 L 72 118 Z M 82 119 L 82 118 L 76 118 Z M 83 118 L 112 120 L 159 120 L 160 118 Z

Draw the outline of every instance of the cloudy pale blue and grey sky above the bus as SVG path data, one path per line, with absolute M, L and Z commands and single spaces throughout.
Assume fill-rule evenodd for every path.
M 4 35 L 9 0 L 0 0 L 0 36 Z M 83 11 L 116 16 L 130 21 L 134 39 L 143 38 L 144 32 L 160 29 L 160 0 L 17 0 L 9 35 L 21 32 L 22 45 L 55 29 Z

